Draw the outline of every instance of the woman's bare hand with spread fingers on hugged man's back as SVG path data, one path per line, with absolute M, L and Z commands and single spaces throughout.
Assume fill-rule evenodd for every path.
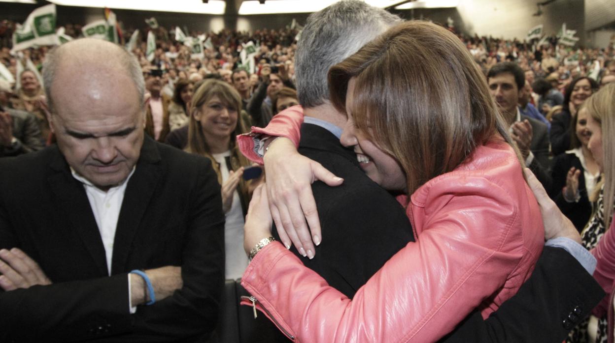
M 292 242 L 301 255 L 314 257 L 314 244 L 320 244 L 322 236 L 311 184 L 320 180 L 338 186 L 343 179 L 300 155 L 284 137 L 269 144 L 263 161 L 269 209 L 282 243 L 290 248 Z

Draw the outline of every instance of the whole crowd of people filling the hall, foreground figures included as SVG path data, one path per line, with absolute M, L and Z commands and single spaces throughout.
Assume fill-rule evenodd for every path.
M 153 57 L 148 29 L 12 54 L 14 29 L 0 338 L 215 339 L 224 279 L 293 340 L 613 336 L 613 46 L 356 0 L 196 57 L 175 27 Z

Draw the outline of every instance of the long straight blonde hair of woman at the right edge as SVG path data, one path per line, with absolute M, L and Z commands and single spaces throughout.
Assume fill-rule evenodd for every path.
M 615 198 L 615 83 L 609 83 L 593 93 L 583 103 L 587 114 L 600 123 L 602 130 L 602 171 L 605 188 L 605 228 L 613 220 L 613 198 Z

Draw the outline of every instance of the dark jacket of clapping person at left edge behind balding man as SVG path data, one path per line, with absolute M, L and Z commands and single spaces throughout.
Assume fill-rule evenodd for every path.
M 0 146 L 0 157 L 17 156 L 41 150 L 45 147 L 36 117 L 30 112 L 6 109 L 12 118 L 13 137 L 17 142 L 12 147 Z

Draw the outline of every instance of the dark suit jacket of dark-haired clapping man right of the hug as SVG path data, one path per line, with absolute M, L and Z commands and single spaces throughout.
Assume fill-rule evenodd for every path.
M 527 119 L 532 126 L 532 141 L 530 150 L 534 154 L 534 160 L 528 168 L 536 175 L 546 190 L 551 189 L 551 162 L 549 160 L 549 129 L 540 120 L 521 115 L 521 120 Z

